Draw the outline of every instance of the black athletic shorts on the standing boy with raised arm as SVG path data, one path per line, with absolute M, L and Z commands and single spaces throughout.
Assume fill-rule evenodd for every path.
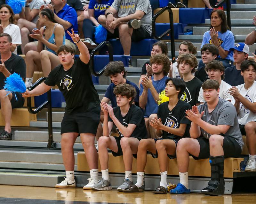
M 96 135 L 99 123 L 100 106 L 96 106 L 84 113 L 64 113 L 60 134 L 92 133 Z

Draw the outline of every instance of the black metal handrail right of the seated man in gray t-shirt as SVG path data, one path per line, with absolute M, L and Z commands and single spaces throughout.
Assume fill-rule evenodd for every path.
M 169 22 L 170 22 L 170 29 L 165 31 L 160 36 L 156 36 L 156 18 L 158 18 L 161 14 L 164 13 L 164 11 L 169 12 Z M 168 6 L 162 8 L 160 11 L 158 11 L 152 18 L 152 35 L 157 40 L 162 40 L 164 36 L 170 34 L 170 42 L 171 42 L 171 55 L 172 55 L 172 63 L 175 62 L 175 41 L 174 41 L 174 26 L 173 26 L 173 13 L 172 9 Z

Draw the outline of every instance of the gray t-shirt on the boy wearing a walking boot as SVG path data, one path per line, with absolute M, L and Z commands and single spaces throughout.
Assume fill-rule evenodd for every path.
M 202 113 L 204 111 L 202 120 L 208 122 L 211 125 L 229 125 L 230 128 L 223 136 L 233 137 L 241 146 L 241 149 L 243 149 L 244 142 L 242 140 L 242 135 L 239 129 L 236 108 L 232 105 L 232 103 L 219 98 L 217 106 L 211 113 L 208 112 L 208 106 L 206 102 L 198 106 L 198 111 L 199 113 Z M 200 129 L 202 135 L 206 139 L 209 139 L 211 134 L 207 133 L 202 128 Z

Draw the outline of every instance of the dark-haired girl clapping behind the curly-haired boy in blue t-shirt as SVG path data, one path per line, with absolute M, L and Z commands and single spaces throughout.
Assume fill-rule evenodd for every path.
M 152 50 L 151 50 L 151 56 L 156 54 L 164 54 L 168 56 L 168 47 L 167 44 L 164 41 L 157 41 L 153 44 Z M 141 69 L 141 75 L 139 80 L 139 85 L 143 77 L 150 77 L 152 76 L 152 67 L 150 65 L 150 62 L 145 62 Z

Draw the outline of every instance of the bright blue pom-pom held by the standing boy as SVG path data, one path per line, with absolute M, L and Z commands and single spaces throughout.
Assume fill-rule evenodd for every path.
M 23 82 L 20 75 L 17 73 L 13 73 L 9 77 L 7 77 L 4 81 L 4 84 L 4 89 L 6 91 L 10 91 L 6 94 L 6 96 L 10 93 L 14 93 L 16 100 L 18 99 L 15 92 L 24 93 L 26 91 L 25 83 Z

